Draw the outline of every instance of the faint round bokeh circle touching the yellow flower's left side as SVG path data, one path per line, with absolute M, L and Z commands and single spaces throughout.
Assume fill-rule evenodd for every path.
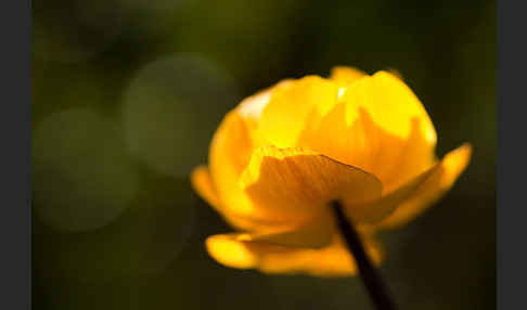
M 187 177 L 206 163 L 215 129 L 239 100 L 233 79 L 209 61 L 194 55 L 157 60 L 125 93 L 128 147 L 155 171 Z

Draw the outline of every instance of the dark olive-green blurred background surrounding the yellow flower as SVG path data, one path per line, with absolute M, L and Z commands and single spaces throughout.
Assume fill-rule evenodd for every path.
M 370 309 L 358 279 L 229 270 L 191 190 L 222 116 L 286 77 L 394 68 L 454 189 L 382 235 L 401 309 L 496 307 L 496 1 L 33 2 L 35 309 Z

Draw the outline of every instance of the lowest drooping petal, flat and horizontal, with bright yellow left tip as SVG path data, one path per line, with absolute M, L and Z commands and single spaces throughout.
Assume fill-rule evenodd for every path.
M 246 234 L 214 235 L 207 238 L 209 255 L 218 262 L 239 269 L 258 269 L 267 273 L 308 273 L 317 276 L 347 276 L 357 273 L 357 266 L 343 241 L 334 234 L 323 248 L 295 248 L 258 241 L 246 241 Z M 382 260 L 380 246 L 363 241 L 375 264 Z

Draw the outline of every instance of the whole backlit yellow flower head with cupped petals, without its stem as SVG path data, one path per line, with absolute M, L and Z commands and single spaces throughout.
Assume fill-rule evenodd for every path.
M 441 160 L 421 102 L 397 76 L 336 67 L 243 100 L 214 135 L 194 189 L 237 231 L 206 248 L 240 269 L 357 273 L 330 207 L 338 199 L 380 263 L 373 234 L 407 223 L 450 189 L 471 146 Z

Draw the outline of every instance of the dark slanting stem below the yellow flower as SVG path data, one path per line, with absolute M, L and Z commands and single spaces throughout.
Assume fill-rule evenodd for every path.
M 335 201 L 332 202 L 331 205 L 335 212 L 338 228 L 346 240 L 349 251 L 355 257 L 360 277 L 362 279 L 362 283 L 370 294 L 370 298 L 375 305 L 375 309 L 395 310 L 395 303 L 387 293 L 386 285 L 384 284 L 375 267 L 373 267 L 372 262 L 368 258 L 359 234 L 355 230 L 349 219 L 347 219 L 344 215 L 340 203 Z

